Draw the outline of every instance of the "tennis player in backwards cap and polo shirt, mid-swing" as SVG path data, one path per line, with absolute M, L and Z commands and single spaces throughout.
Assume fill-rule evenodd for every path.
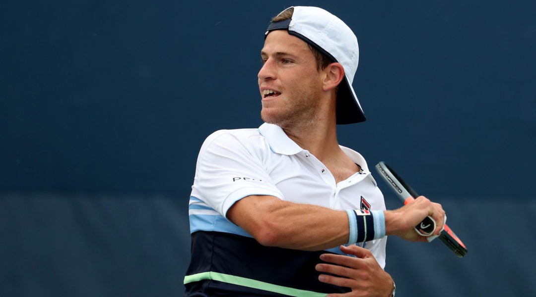
M 214 132 L 199 152 L 185 296 L 394 295 L 385 236 L 426 241 L 413 227 L 430 215 L 437 234 L 444 212 L 424 197 L 385 210 L 366 161 L 338 144 L 337 124 L 365 120 L 355 35 L 325 10 L 290 7 L 261 57 L 265 123 Z

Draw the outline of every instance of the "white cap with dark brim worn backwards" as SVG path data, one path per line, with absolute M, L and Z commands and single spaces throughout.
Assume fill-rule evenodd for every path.
M 272 30 L 288 30 L 288 33 L 312 45 L 333 61 L 343 65 L 345 79 L 337 94 L 337 123 L 351 124 L 366 120 L 363 109 L 355 96 L 352 82 L 359 64 L 358 38 L 342 20 L 318 7 L 292 6 L 292 19 L 272 22 L 265 38 Z M 283 12 L 284 12 L 283 11 Z

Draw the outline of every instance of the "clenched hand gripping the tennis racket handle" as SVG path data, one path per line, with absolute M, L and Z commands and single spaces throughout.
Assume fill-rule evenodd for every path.
M 419 196 L 399 209 L 386 210 L 385 234 L 397 235 L 409 241 L 427 241 L 427 237 L 415 232 L 415 226 L 427 216 L 433 217 L 436 221 L 433 234 L 439 235 L 445 223 L 445 211 L 441 204 L 431 202 L 423 196 Z

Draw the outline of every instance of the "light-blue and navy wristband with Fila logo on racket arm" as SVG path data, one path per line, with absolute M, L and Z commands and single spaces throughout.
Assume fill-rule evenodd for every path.
M 385 237 L 383 210 L 348 209 L 348 245 Z

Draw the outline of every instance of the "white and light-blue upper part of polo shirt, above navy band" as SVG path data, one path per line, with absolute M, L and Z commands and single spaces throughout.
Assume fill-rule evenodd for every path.
M 197 160 L 189 207 L 191 233 L 216 231 L 251 237 L 226 219 L 227 210 L 250 195 L 338 210 L 384 210 L 383 194 L 367 162 L 358 152 L 341 149 L 362 171 L 336 183 L 321 161 L 276 125 L 214 132 L 203 143 Z M 386 237 L 364 244 L 382 268 L 385 243 Z M 339 248 L 329 251 L 341 253 Z

